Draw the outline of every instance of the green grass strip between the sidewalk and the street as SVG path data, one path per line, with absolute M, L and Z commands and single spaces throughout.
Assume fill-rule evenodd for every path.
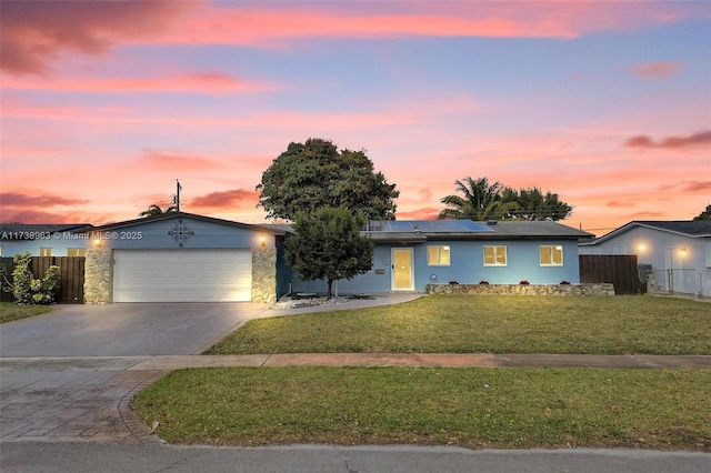
M 711 371 L 234 368 L 133 401 L 176 443 L 711 449 Z

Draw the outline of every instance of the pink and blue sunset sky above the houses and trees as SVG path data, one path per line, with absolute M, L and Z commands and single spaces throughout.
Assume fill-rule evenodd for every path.
M 598 235 L 711 203 L 711 2 L 1 2 L 2 222 L 264 221 L 287 145 L 364 149 L 400 220 L 454 180 Z

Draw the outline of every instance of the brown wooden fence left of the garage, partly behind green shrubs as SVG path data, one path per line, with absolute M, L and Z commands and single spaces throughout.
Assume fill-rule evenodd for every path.
M 83 304 L 84 261 L 84 256 L 32 256 L 30 270 L 36 279 L 42 279 L 49 266 L 58 265 L 61 283 L 56 302 L 58 304 Z M 0 266 L 6 269 L 7 279 L 12 282 L 12 270 L 14 270 L 12 258 L 0 258 Z M 12 292 L 0 292 L 0 301 L 12 302 L 14 296 Z

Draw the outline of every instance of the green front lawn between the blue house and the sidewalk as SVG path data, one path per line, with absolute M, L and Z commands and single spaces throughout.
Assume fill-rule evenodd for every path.
M 250 321 L 209 354 L 711 354 L 711 304 L 641 295 L 427 296 Z

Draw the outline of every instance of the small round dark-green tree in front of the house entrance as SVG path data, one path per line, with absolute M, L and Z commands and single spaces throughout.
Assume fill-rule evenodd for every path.
M 286 259 L 304 281 L 327 280 L 331 299 L 333 281 L 350 280 L 370 271 L 373 242 L 362 236 L 363 212 L 323 207 L 296 215 L 294 234 L 286 241 Z

